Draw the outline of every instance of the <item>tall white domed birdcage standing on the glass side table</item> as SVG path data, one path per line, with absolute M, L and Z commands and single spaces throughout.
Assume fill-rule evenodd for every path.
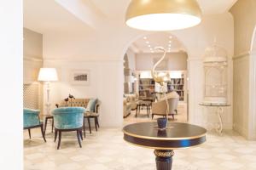
M 228 59 L 224 48 L 214 43 L 204 54 L 205 103 L 227 103 Z

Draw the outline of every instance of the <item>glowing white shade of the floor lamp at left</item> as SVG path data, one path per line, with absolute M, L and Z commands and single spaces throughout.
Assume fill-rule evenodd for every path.
M 57 81 L 58 75 L 55 68 L 41 68 L 38 75 L 38 81 L 51 82 Z

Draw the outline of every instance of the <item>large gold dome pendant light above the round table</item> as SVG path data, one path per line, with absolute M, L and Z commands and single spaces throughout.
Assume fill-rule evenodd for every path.
M 172 31 L 201 22 L 196 0 L 131 0 L 126 25 L 144 31 Z

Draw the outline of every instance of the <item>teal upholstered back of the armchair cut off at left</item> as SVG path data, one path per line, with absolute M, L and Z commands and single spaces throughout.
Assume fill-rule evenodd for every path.
M 23 109 L 23 127 L 33 127 L 40 124 L 39 110 Z

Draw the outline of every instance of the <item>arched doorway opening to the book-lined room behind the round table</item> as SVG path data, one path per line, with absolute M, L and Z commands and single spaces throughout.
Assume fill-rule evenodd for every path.
M 187 82 L 188 54 L 183 42 L 181 42 L 175 35 L 167 32 L 151 33 L 140 36 L 131 42 L 125 51 L 124 62 L 129 61 L 130 68 L 128 68 L 128 70 L 131 73 L 129 76 L 133 78 L 131 78 L 131 82 L 128 83 L 127 80 L 125 80 L 124 85 L 134 83 L 135 90 L 133 93 L 130 93 L 129 91 L 129 94 L 124 94 L 124 117 L 128 116 L 128 119 L 129 117 L 134 119 L 136 115 L 136 107 L 134 107 L 133 103 L 135 103 L 138 99 L 141 100 L 143 94 L 160 94 L 160 92 L 158 92 L 159 86 L 154 83 L 150 73 L 154 63 L 156 63 L 156 61 L 159 60 L 162 55 L 158 51 L 154 51 L 154 47 L 157 46 L 162 46 L 167 50 L 166 59 L 161 63 L 161 65 L 159 65 L 157 70 L 170 71 L 171 82 L 166 85 L 166 89 L 170 90 L 172 88 L 180 96 L 180 101 L 177 108 L 179 118 L 175 118 L 175 121 L 187 122 L 187 104 L 189 103 L 187 98 L 189 87 Z M 136 65 L 136 67 L 131 65 Z M 124 68 L 127 70 L 125 65 Z M 128 76 L 125 75 L 125 77 Z M 160 95 L 157 96 L 160 99 Z M 137 98 L 136 101 L 134 101 L 134 98 Z M 131 110 L 131 116 L 129 116 L 130 114 L 127 113 L 129 112 L 129 109 Z M 142 119 L 134 120 L 134 122 L 148 120 L 146 114 L 140 118 Z M 131 122 L 131 119 L 129 122 Z

